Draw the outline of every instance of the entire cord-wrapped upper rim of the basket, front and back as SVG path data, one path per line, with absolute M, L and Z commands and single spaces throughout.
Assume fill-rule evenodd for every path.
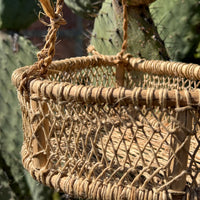
M 54 61 L 49 66 L 49 70 L 73 70 L 83 69 L 88 66 L 97 65 L 116 65 L 116 56 L 86 56 L 75 57 L 59 61 Z M 128 60 L 128 70 L 135 70 L 154 74 L 177 76 L 181 78 L 191 78 L 191 80 L 200 80 L 200 66 L 197 64 L 173 63 L 170 61 L 145 60 L 141 58 L 131 58 Z M 158 70 L 158 67 L 160 68 Z M 16 69 L 12 74 L 12 82 L 19 89 L 22 81 L 22 74 L 28 69 L 28 66 Z M 53 98 L 68 101 L 70 100 L 84 103 L 108 103 L 123 105 L 134 104 L 138 106 L 161 106 L 161 107 L 179 107 L 179 106 L 199 106 L 200 89 L 192 91 L 177 89 L 143 89 L 135 87 L 126 89 L 124 87 L 95 87 L 84 85 L 73 85 L 70 83 L 41 80 L 35 78 L 29 82 L 31 95 L 38 97 Z M 178 102 L 178 103 L 177 103 Z M 178 104 L 178 105 L 177 105 Z

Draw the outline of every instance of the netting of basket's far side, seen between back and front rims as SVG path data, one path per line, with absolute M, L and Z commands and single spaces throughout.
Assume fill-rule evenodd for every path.
M 68 70 L 58 71 L 58 73 L 49 73 L 48 78 L 74 85 L 116 87 L 116 68 L 114 66 L 90 66 L 81 70 L 76 68 L 71 70 L 69 68 Z M 180 77 L 157 76 L 127 69 L 124 74 L 124 87 L 126 89 L 141 87 L 143 89 L 193 90 L 200 87 L 200 82 Z

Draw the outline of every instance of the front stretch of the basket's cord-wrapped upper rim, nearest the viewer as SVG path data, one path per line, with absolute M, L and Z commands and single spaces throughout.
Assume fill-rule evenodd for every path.
M 48 80 L 34 79 L 30 82 L 31 99 L 53 99 L 54 101 L 75 101 L 89 104 L 117 104 L 147 107 L 160 106 L 184 107 L 199 106 L 200 89 L 195 91 L 167 90 L 167 89 L 142 89 L 135 87 L 133 90 L 108 87 L 94 87 L 72 85 Z M 188 99 L 189 97 L 189 99 Z M 178 103 L 177 103 L 178 102 Z M 178 104 L 178 105 L 177 105 Z

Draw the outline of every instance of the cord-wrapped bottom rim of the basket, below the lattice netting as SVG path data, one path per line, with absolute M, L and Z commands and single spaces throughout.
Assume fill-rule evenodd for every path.
M 64 192 L 72 198 L 94 200 L 200 200 L 200 188 L 186 189 L 185 192 L 163 190 L 156 193 L 153 190 L 141 190 L 140 188 L 119 184 L 105 184 L 102 181 L 88 180 L 75 175 L 66 177 L 59 171 L 51 169 L 36 169 L 25 144 L 22 146 L 22 161 L 25 169 L 38 182 L 56 191 Z

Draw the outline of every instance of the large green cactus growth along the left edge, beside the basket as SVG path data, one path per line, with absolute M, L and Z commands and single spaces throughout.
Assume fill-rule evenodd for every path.
M 0 199 L 43 200 L 51 192 L 34 182 L 20 158 L 22 122 L 16 91 L 10 77 L 14 69 L 36 61 L 36 48 L 16 34 L 0 31 Z

